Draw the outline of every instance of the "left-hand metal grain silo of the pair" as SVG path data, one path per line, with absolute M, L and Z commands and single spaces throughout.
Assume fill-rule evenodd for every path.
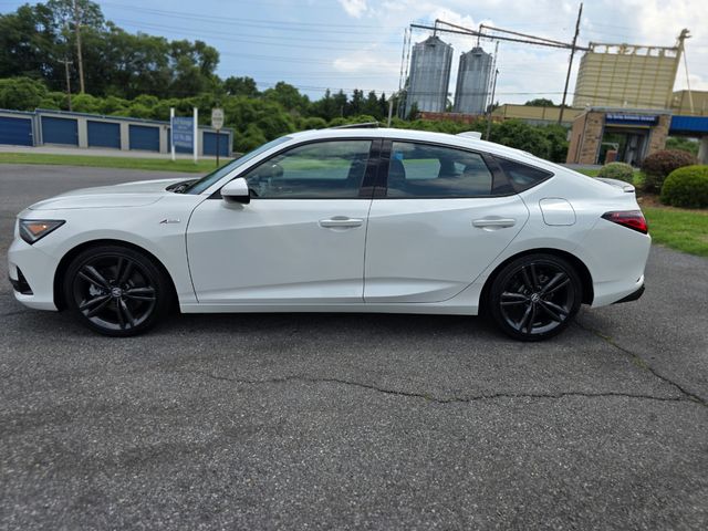
M 406 116 L 415 103 L 418 111 L 442 113 L 450 84 L 452 46 L 433 35 L 413 46 L 406 97 Z

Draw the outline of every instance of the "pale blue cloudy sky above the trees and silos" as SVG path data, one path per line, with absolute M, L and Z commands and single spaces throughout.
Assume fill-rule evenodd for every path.
M 0 0 L 0 12 L 25 3 Z M 34 2 L 30 2 L 34 3 Z M 467 28 L 480 23 L 570 42 L 579 1 L 568 0 L 100 0 L 106 19 L 131 32 L 202 40 L 220 52 L 221 77 L 253 77 L 261 90 L 278 81 L 312 98 L 326 88 L 391 94 L 400 80 L 404 31 L 412 22 L 446 20 Z M 579 43 L 671 46 L 683 28 L 691 90 L 708 91 L 708 1 L 590 0 L 584 2 Z M 413 42 L 429 32 L 416 30 Z M 473 38 L 441 35 L 457 61 Z M 493 51 L 492 42 L 481 43 Z M 524 103 L 548 97 L 560 103 L 570 52 L 500 43 L 496 100 Z M 572 94 L 580 54 L 571 75 Z M 684 65 L 675 90 L 687 87 Z M 572 96 L 569 96 L 572 101 Z

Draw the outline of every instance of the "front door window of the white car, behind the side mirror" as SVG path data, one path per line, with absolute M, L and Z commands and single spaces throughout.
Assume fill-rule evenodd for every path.
M 293 147 L 251 169 L 251 196 L 260 199 L 354 199 L 372 140 L 327 140 Z

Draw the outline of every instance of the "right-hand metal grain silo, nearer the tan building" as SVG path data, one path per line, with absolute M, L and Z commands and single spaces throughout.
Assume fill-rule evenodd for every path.
M 456 113 L 483 114 L 487 107 L 492 55 L 479 46 L 460 55 L 455 90 Z

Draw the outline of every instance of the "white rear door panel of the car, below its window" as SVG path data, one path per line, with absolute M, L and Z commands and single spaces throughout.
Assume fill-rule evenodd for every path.
M 509 246 L 528 217 L 518 196 L 375 199 L 364 299 L 367 303 L 450 299 Z

